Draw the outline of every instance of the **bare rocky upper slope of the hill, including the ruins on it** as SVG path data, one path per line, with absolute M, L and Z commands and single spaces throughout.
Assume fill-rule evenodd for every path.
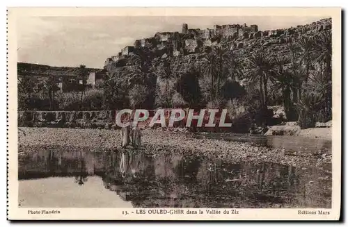
M 109 74 L 127 76 L 141 64 L 133 58 L 141 53 L 145 55 L 141 58 L 150 61 L 152 72 L 161 70 L 161 61 L 166 60 L 171 72 L 180 73 L 188 67 L 202 66 L 203 56 L 214 47 L 229 50 L 242 59 L 260 50 L 269 57 L 283 56 L 289 62 L 290 47 L 296 48 L 301 37 L 322 32 L 331 33 L 331 18 L 274 31 L 258 31 L 257 25 L 248 27 L 246 24 L 216 25 L 205 30 L 188 29 L 187 24 L 183 24 L 181 33 L 159 32 L 154 37 L 135 40 L 134 47 L 125 47 L 116 56 L 107 58 L 104 67 Z

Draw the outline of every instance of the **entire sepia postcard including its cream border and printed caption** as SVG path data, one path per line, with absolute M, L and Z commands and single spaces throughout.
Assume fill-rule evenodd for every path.
M 8 8 L 8 219 L 338 220 L 340 8 Z

